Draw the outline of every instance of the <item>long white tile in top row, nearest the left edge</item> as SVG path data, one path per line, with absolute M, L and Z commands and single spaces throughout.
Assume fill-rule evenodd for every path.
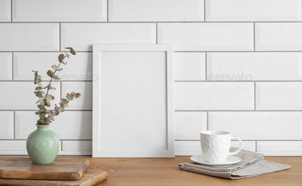
M 106 0 L 13 0 L 13 22 L 106 22 Z M 26 7 L 26 8 L 25 8 Z

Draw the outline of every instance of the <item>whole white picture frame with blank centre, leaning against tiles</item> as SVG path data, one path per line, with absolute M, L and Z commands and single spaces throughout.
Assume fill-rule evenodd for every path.
M 92 157 L 175 157 L 173 56 L 173 45 L 93 45 Z

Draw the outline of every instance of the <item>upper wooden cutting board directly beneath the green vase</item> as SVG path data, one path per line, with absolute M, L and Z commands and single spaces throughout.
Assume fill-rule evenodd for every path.
M 88 159 L 56 158 L 50 164 L 34 164 L 29 157 L 17 157 L 0 161 L 0 178 L 78 180 L 88 167 Z

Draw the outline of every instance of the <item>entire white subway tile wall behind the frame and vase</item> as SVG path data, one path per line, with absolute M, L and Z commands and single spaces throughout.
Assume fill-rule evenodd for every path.
M 53 82 L 51 107 L 67 92 L 82 95 L 51 130 L 62 142 L 60 155 L 91 155 L 92 45 L 174 44 L 177 155 L 200 154 L 199 132 L 217 129 L 241 137 L 245 150 L 301 156 L 301 5 L 0 0 L 0 154 L 27 154 L 37 110 L 31 71 L 38 70 L 46 86 L 46 72 L 64 47 L 77 54 Z

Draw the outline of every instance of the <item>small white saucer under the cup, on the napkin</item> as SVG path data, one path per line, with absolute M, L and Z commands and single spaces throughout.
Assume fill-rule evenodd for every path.
M 235 164 L 235 163 L 238 163 L 239 161 L 241 161 L 241 158 L 239 158 L 239 157 L 228 156 L 226 161 L 223 162 L 223 163 L 209 163 L 209 162 L 206 162 L 206 160 L 205 160 L 205 158 L 203 157 L 202 154 L 192 156 L 192 157 L 190 157 L 190 159 L 194 162 L 202 164 L 203 166 L 212 167 L 212 168 L 229 167 L 232 164 Z

